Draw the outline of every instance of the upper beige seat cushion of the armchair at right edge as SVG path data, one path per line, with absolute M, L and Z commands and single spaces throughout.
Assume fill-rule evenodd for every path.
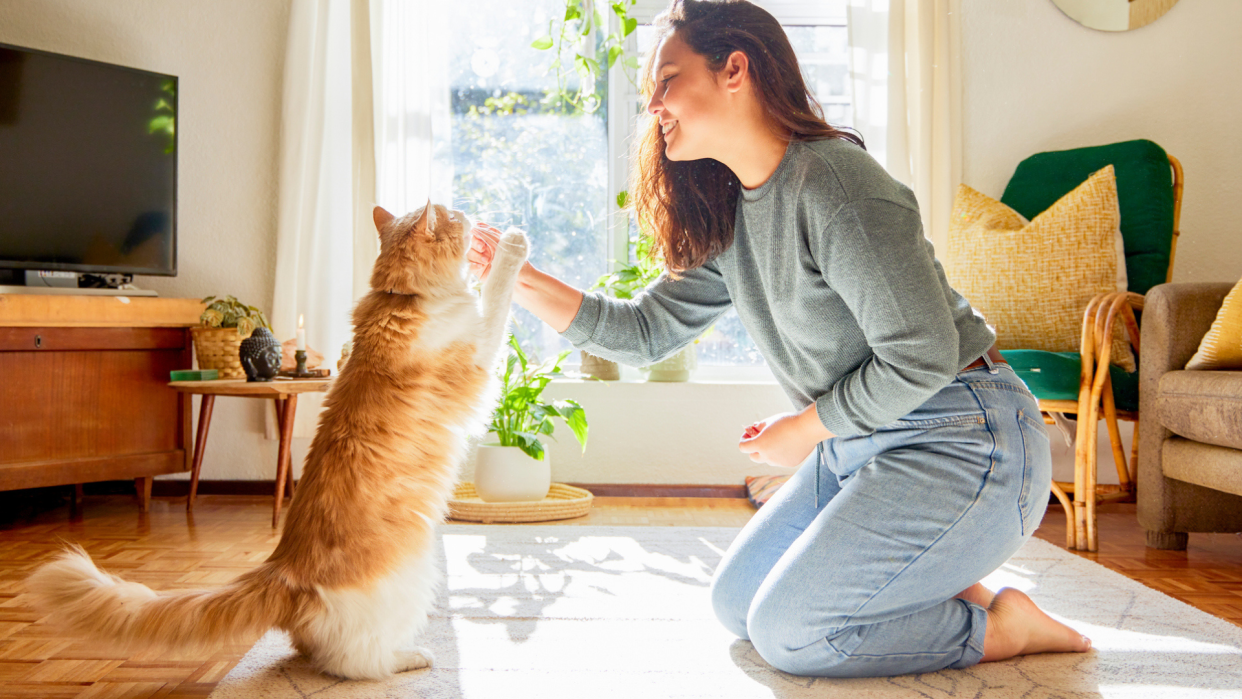
M 1242 449 L 1242 371 L 1170 371 L 1158 386 L 1156 418 L 1166 430 Z

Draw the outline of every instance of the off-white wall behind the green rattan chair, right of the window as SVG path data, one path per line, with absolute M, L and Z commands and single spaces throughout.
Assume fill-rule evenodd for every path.
M 961 5 L 965 184 L 1000 197 L 1032 153 L 1154 140 L 1186 175 L 1174 281 L 1242 277 L 1242 2 L 1182 0 L 1126 32 L 1087 29 L 1052 0 Z M 1053 474 L 1073 480 L 1073 449 L 1052 437 Z M 1103 423 L 1099 447 L 1099 482 L 1117 483 Z

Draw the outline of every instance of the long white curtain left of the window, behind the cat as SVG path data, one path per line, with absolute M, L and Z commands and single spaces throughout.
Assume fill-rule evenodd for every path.
M 448 202 L 446 7 L 432 0 L 298 0 L 289 14 L 272 328 L 335 374 L 379 252 L 371 209 Z M 447 161 L 447 158 L 441 158 Z M 322 395 L 298 399 L 312 437 Z M 267 435 L 276 437 L 274 413 Z

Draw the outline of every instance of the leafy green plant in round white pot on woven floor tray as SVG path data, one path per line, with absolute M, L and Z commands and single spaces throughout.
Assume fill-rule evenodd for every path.
M 586 449 L 586 412 L 578 401 L 548 402 L 543 390 L 560 376 L 560 363 L 569 350 L 555 359 L 533 364 L 517 338 L 509 335 L 509 359 L 499 372 L 501 401 L 492 413 L 488 431 L 494 442 L 479 444 L 474 462 L 474 492 L 483 502 L 513 503 L 542 500 L 551 487 L 551 464 L 542 437 L 551 436 L 560 418 Z

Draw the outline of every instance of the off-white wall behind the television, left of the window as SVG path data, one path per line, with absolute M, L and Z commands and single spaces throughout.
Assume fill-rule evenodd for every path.
M 180 78 L 178 276 L 138 286 L 271 309 L 288 11 L 289 0 L 0 2 L 0 42 Z M 216 401 L 204 478 L 273 478 L 262 407 Z

